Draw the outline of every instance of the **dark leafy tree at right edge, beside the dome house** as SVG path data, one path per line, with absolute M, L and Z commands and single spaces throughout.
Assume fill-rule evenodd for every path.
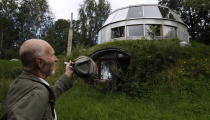
M 183 0 L 183 14 L 192 39 L 210 44 L 210 2 L 208 0 Z

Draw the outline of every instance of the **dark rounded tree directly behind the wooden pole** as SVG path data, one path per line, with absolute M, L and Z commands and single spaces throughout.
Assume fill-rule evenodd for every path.
M 73 20 L 73 38 L 72 38 L 72 49 L 76 48 L 76 45 L 81 44 L 80 34 L 80 21 Z M 48 41 L 55 49 L 56 55 L 65 54 L 67 50 L 68 32 L 70 22 L 65 19 L 58 19 L 47 31 L 47 35 L 43 37 L 44 40 Z

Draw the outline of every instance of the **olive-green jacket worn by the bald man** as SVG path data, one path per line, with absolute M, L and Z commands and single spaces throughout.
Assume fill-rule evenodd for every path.
M 56 100 L 71 87 L 71 79 L 62 75 L 50 89 Z M 23 72 L 10 86 L 6 98 L 8 120 L 53 120 L 50 94 L 40 78 Z

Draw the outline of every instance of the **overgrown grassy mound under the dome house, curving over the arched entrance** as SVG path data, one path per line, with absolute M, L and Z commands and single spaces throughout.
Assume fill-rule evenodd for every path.
M 177 40 L 115 41 L 87 50 L 78 48 L 70 59 L 108 47 L 126 49 L 131 55 L 127 72 L 116 86 L 129 95 L 152 96 L 154 90 L 170 89 L 193 92 L 202 83 L 205 84 L 200 86 L 202 90 L 209 88 L 208 81 L 199 79 L 210 76 L 210 47 L 199 43 L 183 47 Z

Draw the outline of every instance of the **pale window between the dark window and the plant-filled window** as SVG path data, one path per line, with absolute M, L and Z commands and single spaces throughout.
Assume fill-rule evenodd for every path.
M 143 25 L 127 26 L 128 36 L 144 36 Z

